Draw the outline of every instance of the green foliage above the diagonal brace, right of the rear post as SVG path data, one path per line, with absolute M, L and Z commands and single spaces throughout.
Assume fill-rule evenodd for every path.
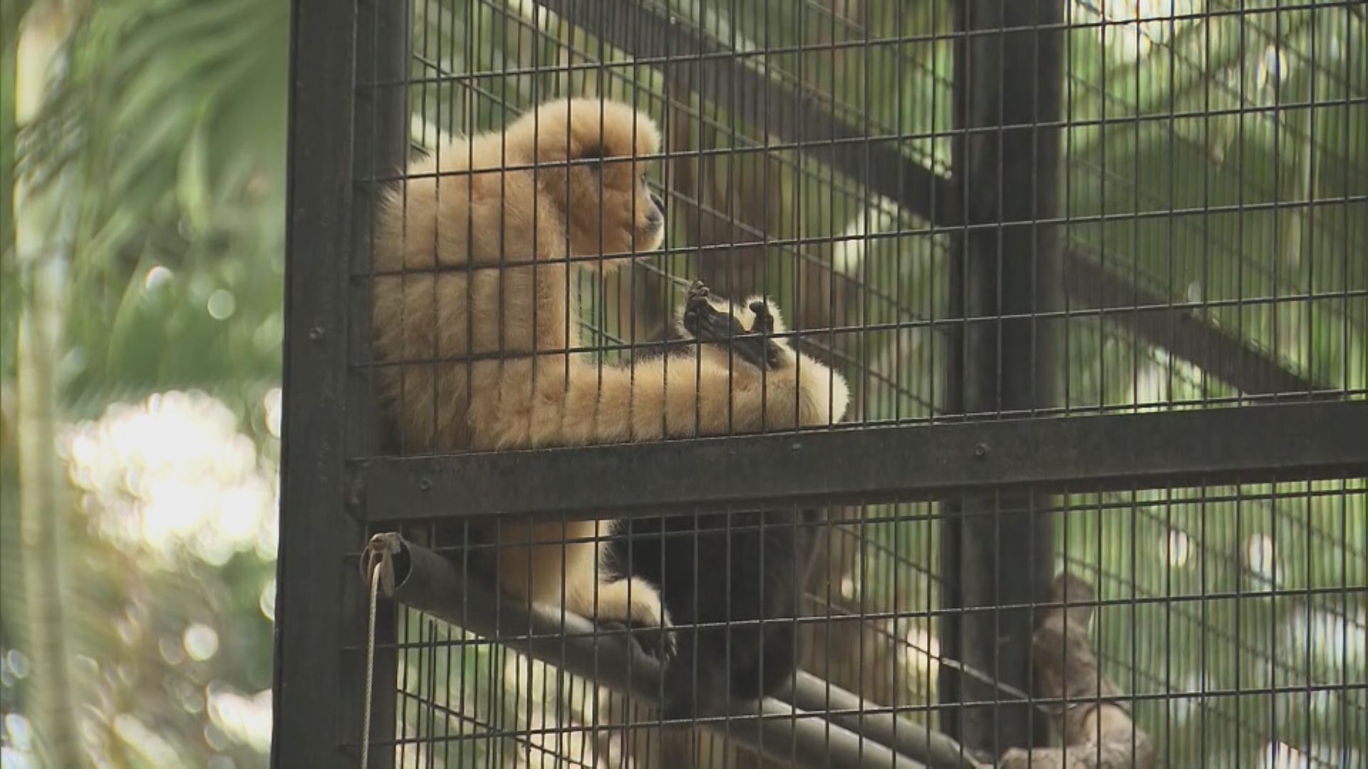
M 1071 33 L 1068 235 L 1285 367 L 1363 389 L 1368 29 L 1274 5 L 1185 19 L 1138 57 Z

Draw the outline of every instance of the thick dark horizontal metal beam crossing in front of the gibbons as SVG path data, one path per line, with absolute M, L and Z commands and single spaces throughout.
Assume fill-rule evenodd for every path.
M 361 460 L 371 521 L 1368 476 L 1368 402 L 1248 405 Z

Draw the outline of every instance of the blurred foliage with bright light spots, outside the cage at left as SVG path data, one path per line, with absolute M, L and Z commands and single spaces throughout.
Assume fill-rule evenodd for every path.
M 73 680 L 88 703 L 82 742 L 104 765 L 260 765 L 269 728 L 260 692 L 271 684 L 289 3 L 4 1 L 7 51 L 30 5 L 73 19 L 41 109 L 4 145 L 15 148 L 31 203 L 74 220 L 68 238 L 49 233 L 44 245 L 71 260 L 56 354 L 60 416 L 77 424 L 52 450 L 62 450 L 78 491 L 68 495 L 77 504 L 66 512 L 63 582 Z M 12 116 L 12 103 L 4 105 Z M 8 441 L 18 311 L 8 300 L 30 282 L 4 245 Z M 176 389 L 227 408 L 160 394 Z M 82 436 L 94 442 L 85 454 L 73 442 Z M 25 665 L 8 665 L 25 660 L 25 634 L 4 449 L 0 709 L 22 714 Z M 241 456 L 220 456 L 228 449 Z M 189 471 L 194 478 L 183 478 Z M 149 550 L 157 527 L 183 536 Z M 246 545 L 224 547 L 233 536 Z M 21 722 L 5 721 L 7 746 L 27 739 Z

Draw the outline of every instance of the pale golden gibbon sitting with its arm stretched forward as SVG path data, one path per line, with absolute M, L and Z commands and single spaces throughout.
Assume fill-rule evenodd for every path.
M 379 207 L 372 352 L 399 450 L 584 446 L 826 424 L 845 382 L 757 335 L 695 286 L 681 343 L 627 365 L 581 346 L 576 270 L 611 274 L 661 246 L 646 185 L 659 152 L 648 116 L 616 101 L 555 100 L 502 133 L 412 163 Z M 735 359 L 772 356 L 766 368 Z M 769 365 L 773 363 L 773 365 Z M 528 479 L 531 482 L 532 479 Z M 658 591 L 605 568 L 611 521 L 487 519 L 499 588 L 601 624 L 668 628 Z M 633 634 L 635 635 L 635 634 Z M 655 634 L 669 655 L 673 636 Z M 655 643 L 643 640 L 644 644 Z

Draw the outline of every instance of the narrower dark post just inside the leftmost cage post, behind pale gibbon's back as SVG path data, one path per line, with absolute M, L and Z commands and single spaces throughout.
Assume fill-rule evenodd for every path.
M 357 0 L 356 18 L 356 109 L 353 153 L 352 231 L 353 248 L 349 261 L 352 275 L 347 294 L 347 456 L 373 457 L 390 449 L 393 436 L 378 421 L 375 409 L 375 380 L 371 368 L 371 289 L 373 218 L 380 193 L 404 171 L 409 152 L 409 10 L 410 0 Z M 350 487 L 349 487 L 350 488 Z M 356 508 L 353 514 L 361 514 Z M 373 531 L 368 531 L 373 534 Z M 361 542 L 353 543 L 360 546 Z M 349 591 L 346 601 L 365 601 L 365 595 Z M 383 601 L 375 618 L 375 661 L 371 706 L 371 755 L 367 766 L 386 769 L 394 764 L 394 728 L 398 654 L 398 613 L 393 603 Z M 364 631 L 365 624 L 357 625 Z M 350 649 L 361 650 L 364 632 Z M 347 670 L 364 670 L 360 654 L 346 658 Z M 346 677 L 343 707 L 349 724 L 347 738 L 361 733 L 361 706 L 364 681 Z M 350 725 L 354 724 L 354 728 Z

